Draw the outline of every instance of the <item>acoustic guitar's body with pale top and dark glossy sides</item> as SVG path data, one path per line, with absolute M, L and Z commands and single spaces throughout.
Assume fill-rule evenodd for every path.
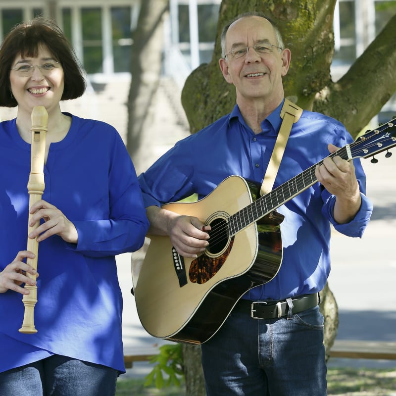
M 230 236 L 226 220 L 259 197 L 259 187 L 230 176 L 197 202 L 163 207 L 211 225 L 209 247 L 197 259 L 181 257 L 168 237 L 149 236 L 143 262 L 133 260 L 139 318 L 154 337 L 202 344 L 221 327 L 237 301 L 279 271 L 283 216 L 271 212 Z M 219 238 L 219 236 L 221 236 Z

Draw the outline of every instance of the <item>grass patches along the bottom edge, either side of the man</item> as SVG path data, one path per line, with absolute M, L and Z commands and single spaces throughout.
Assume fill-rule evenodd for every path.
M 396 396 L 395 369 L 328 368 L 328 395 Z M 184 396 L 184 387 L 156 389 L 144 387 L 144 379 L 122 379 L 117 382 L 116 396 Z

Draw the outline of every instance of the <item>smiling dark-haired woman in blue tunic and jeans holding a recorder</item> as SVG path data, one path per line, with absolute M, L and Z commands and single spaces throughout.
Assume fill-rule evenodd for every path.
M 136 173 L 117 131 L 62 113 L 86 88 L 73 49 L 51 21 L 14 28 L 0 48 L 0 395 L 114 395 L 125 372 L 122 297 L 115 255 L 140 248 L 148 230 Z M 32 205 L 25 261 L 31 113 L 48 112 L 45 190 Z M 22 334 L 24 284 L 37 285 L 36 334 Z

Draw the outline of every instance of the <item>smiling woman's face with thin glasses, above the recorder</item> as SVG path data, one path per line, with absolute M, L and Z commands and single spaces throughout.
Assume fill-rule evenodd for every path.
M 58 107 L 64 89 L 63 77 L 62 66 L 44 45 L 39 46 L 37 57 L 16 56 L 9 79 L 18 111 L 30 114 L 34 106 L 45 106 L 48 112 Z

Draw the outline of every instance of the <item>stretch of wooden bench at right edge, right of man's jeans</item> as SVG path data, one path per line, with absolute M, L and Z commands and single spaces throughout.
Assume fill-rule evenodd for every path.
M 336 340 L 330 357 L 396 360 L 396 342 Z

